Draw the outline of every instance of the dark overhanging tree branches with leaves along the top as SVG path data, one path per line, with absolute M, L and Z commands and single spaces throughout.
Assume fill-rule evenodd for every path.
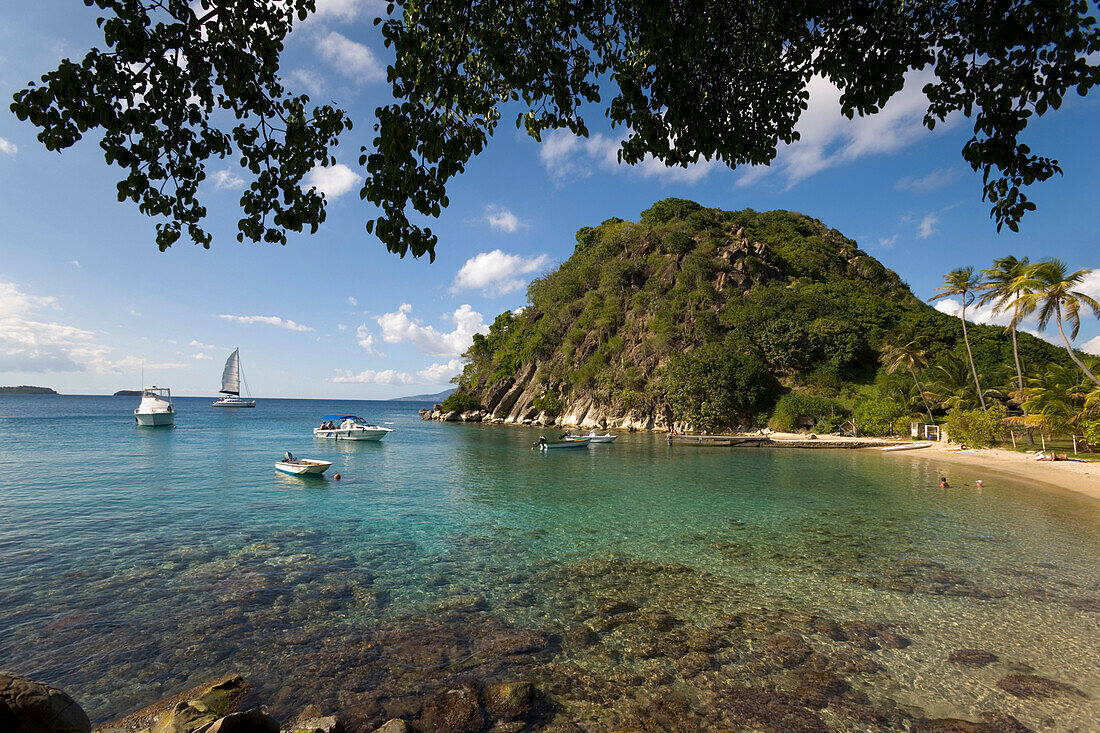
M 323 200 L 299 188 L 349 127 L 308 109 L 278 80 L 283 42 L 315 0 L 85 0 L 102 11 L 106 50 L 15 95 L 12 109 L 51 150 L 98 129 L 108 163 L 129 172 L 120 199 L 186 226 L 208 245 L 197 198 L 211 157 L 240 155 L 255 177 L 241 198 L 239 239 L 285 241 L 316 228 Z M 481 153 L 502 116 L 539 139 L 588 133 L 602 110 L 624 130 L 620 158 L 732 166 L 771 161 L 799 138 L 807 83 L 842 90 L 848 117 L 873 114 L 904 74 L 932 69 L 928 128 L 963 112 L 963 156 L 985 179 L 998 228 L 1034 209 L 1025 187 L 1059 172 L 1021 141 L 1066 94 L 1100 81 L 1100 29 L 1087 0 L 404 0 L 378 19 L 394 51 L 394 101 L 376 110 L 361 196 L 380 214 L 367 230 L 404 255 L 433 256 L 447 185 Z M 1092 54 L 1092 56 L 1090 56 Z M 1090 58 L 1092 59 L 1090 62 Z M 410 218 L 413 217 L 413 218 Z

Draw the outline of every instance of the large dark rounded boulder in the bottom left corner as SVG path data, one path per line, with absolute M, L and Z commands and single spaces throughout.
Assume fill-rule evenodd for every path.
M 91 722 L 80 705 L 56 687 L 0 671 L 0 731 L 89 733 Z

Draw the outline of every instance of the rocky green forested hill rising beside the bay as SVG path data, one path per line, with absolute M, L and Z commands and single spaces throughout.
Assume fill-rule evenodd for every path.
M 965 358 L 958 318 L 791 211 L 659 201 L 637 222 L 578 231 L 572 256 L 534 281 L 528 300 L 474 337 L 451 405 L 509 422 L 761 425 L 791 390 L 854 402 L 887 379 L 878 349 L 898 332 L 948 365 Z M 1007 378 L 1002 329 L 975 327 L 971 341 L 987 379 Z M 1021 350 L 1025 361 L 1058 358 L 1025 335 Z

